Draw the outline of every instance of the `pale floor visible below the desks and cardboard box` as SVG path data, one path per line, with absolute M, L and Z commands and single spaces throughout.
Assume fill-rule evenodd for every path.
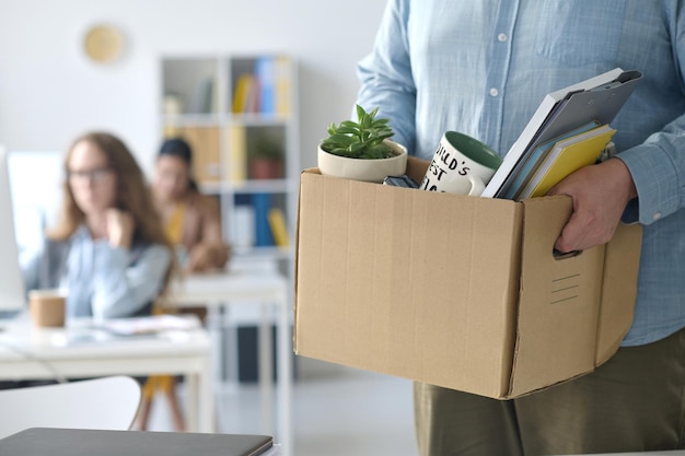
M 311 360 L 300 367 L 293 391 L 294 456 L 417 454 L 411 382 Z M 256 386 L 223 388 L 218 400 L 220 432 L 263 433 Z M 172 430 L 163 398 L 153 402 L 150 430 Z

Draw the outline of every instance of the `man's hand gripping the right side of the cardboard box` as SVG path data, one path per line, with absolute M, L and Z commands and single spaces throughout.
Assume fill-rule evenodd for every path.
M 607 243 L 637 190 L 624 162 L 611 159 L 578 169 L 547 195 L 568 195 L 573 200 L 573 213 L 555 244 L 557 250 L 571 252 Z

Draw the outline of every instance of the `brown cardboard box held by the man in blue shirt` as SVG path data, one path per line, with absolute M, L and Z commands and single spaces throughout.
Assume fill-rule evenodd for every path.
M 632 320 L 641 229 L 558 259 L 570 212 L 304 171 L 295 353 L 498 399 L 593 371 Z

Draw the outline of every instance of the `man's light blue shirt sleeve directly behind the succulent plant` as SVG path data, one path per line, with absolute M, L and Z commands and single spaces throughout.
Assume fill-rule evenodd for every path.
M 387 3 L 373 50 L 357 66 L 361 82 L 357 104 L 365 110 L 379 107 L 376 117 L 388 118 L 395 131 L 392 139 L 414 153 L 416 85 L 411 75 L 408 15 L 408 1 Z

